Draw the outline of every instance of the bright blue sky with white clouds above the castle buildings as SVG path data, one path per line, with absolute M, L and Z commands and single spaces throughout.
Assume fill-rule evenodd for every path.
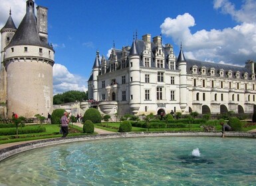
M 0 1 L 0 27 L 11 7 L 18 27 L 26 0 Z M 96 57 L 132 45 L 147 33 L 162 42 L 182 42 L 186 58 L 243 66 L 256 61 L 256 0 L 36 0 L 49 9 L 49 43 L 55 48 L 54 94 L 87 90 Z M 114 43 L 114 44 L 113 44 Z

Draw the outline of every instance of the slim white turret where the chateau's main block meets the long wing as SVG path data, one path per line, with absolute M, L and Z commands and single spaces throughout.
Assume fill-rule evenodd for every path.
M 187 90 L 187 62 L 180 46 L 180 54 L 178 56 L 178 67 L 180 70 L 180 108 L 184 111 L 188 106 L 188 90 Z

